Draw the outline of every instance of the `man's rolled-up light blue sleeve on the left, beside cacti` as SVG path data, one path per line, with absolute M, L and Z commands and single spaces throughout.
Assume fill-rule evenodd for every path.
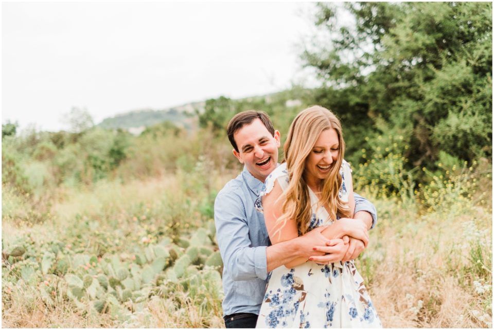
M 245 207 L 235 192 L 220 192 L 216 197 L 215 225 L 223 267 L 231 278 L 265 280 L 266 246 L 252 246 Z

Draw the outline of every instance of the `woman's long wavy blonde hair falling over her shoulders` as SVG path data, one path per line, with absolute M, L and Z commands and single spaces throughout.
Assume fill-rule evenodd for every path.
M 290 182 L 280 196 L 280 200 L 284 200 L 281 208 L 283 215 L 277 220 L 281 226 L 276 227 L 282 228 L 288 219 L 295 219 L 297 228 L 302 234 L 309 229 L 312 209 L 305 178 L 305 164 L 321 133 L 330 129 L 336 130 L 338 134 L 340 152 L 337 161 L 331 166 L 328 177 L 324 180 L 318 207 L 326 204 L 329 208 L 329 216 L 333 220 L 336 220 L 337 214 L 343 217 L 350 216 L 349 207 L 338 196 L 342 185 L 340 168 L 345 153 L 341 124 L 331 111 L 314 105 L 299 113 L 288 131 L 284 150 Z

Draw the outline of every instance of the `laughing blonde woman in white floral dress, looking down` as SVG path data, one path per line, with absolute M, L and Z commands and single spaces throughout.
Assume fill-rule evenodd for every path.
M 339 244 L 355 232 L 348 230 L 358 221 L 349 219 L 355 201 L 344 147 L 341 124 L 328 109 L 312 106 L 294 119 L 286 162 L 268 176 L 256 203 L 272 244 L 317 226 L 328 225 L 323 234 Z M 297 259 L 271 272 L 257 327 L 382 325 L 353 261 L 321 265 Z

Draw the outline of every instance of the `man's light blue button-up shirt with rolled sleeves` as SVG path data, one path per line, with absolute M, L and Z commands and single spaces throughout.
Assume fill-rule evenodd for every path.
M 235 179 L 220 190 L 215 200 L 216 239 L 223 259 L 223 316 L 234 313 L 259 315 L 266 278 L 266 247 L 271 245 L 264 216 L 254 203 L 263 182 L 243 168 Z M 367 199 L 355 195 L 355 213 L 372 215 L 372 227 L 377 221 L 376 208 Z

